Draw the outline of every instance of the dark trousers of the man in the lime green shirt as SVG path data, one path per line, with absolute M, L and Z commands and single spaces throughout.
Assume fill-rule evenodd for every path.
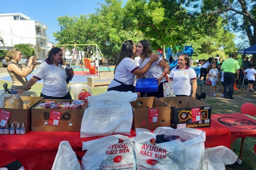
M 224 98 L 231 98 L 234 93 L 235 73 L 224 73 Z M 229 87 L 229 93 L 228 93 Z

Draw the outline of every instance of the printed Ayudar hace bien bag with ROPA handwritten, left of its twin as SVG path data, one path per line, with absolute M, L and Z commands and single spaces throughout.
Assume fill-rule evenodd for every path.
M 132 138 L 123 135 L 106 136 L 83 142 L 86 150 L 82 170 L 136 170 Z

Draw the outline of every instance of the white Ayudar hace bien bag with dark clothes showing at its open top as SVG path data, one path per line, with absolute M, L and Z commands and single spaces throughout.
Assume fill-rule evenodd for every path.
M 173 140 L 156 144 L 156 135 L 180 136 L 185 142 Z M 153 133 L 136 128 L 137 168 L 202 170 L 205 132 L 198 129 L 158 127 Z

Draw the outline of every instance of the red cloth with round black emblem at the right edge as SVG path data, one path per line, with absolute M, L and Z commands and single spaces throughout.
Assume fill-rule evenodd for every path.
M 243 114 L 214 114 L 211 120 L 229 129 L 231 143 L 240 137 L 256 136 L 256 120 Z

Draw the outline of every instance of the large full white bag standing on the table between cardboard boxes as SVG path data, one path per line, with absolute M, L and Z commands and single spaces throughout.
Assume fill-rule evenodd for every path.
M 132 92 L 108 91 L 88 97 L 80 137 L 108 136 L 113 133 L 130 135 L 133 111 L 129 102 L 137 100 Z

